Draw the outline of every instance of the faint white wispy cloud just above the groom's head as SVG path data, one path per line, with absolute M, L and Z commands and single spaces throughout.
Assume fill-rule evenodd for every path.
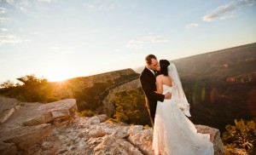
M 138 48 L 143 46 L 146 43 L 166 43 L 168 42 L 168 39 L 162 36 L 144 36 L 144 37 L 138 37 L 135 39 L 131 39 L 129 43 L 126 45 L 128 48 Z

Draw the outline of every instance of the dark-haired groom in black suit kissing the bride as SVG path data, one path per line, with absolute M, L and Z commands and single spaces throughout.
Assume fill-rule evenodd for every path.
M 148 55 L 145 58 L 146 66 L 140 76 L 141 86 L 144 94 L 146 95 L 146 106 L 150 115 L 150 121 L 152 127 L 154 127 L 154 115 L 157 105 L 157 100 L 163 101 L 164 99 L 171 99 L 171 93 L 168 92 L 166 95 L 157 94 L 155 85 L 155 73 L 156 67 L 158 66 L 157 58 L 154 55 Z

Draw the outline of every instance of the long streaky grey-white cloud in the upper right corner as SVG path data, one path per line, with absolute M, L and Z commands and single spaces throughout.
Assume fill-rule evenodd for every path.
M 202 17 L 202 20 L 211 22 L 213 20 L 229 19 L 234 16 L 237 9 L 241 9 L 245 5 L 251 6 L 254 3 L 256 3 L 256 0 L 232 1 L 208 12 Z

